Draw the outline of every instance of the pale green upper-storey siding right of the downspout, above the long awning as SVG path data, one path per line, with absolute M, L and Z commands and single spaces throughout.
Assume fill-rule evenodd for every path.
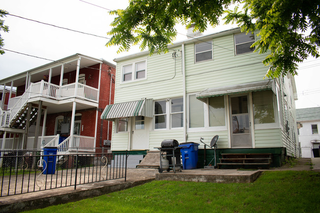
M 193 44 L 185 46 L 186 90 L 188 93 L 263 80 L 268 67 L 265 67 L 261 61 L 264 60 L 267 53 L 235 56 L 232 34 L 214 38 L 213 44 L 215 60 L 201 63 L 193 62 Z

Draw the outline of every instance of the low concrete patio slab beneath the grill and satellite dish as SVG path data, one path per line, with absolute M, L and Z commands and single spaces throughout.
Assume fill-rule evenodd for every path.
M 260 171 L 222 171 L 216 169 L 194 169 L 183 170 L 181 173 L 156 173 L 156 180 L 209 183 L 253 183 L 260 176 L 260 174 Z

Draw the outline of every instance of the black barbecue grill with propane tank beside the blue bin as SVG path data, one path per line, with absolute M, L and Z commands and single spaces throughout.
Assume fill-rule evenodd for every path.
M 173 170 L 176 173 L 176 168 L 181 172 L 181 153 L 177 140 L 170 139 L 161 142 L 160 150 L 160 168 L 159 173 L 163 170 L 169 172 Z

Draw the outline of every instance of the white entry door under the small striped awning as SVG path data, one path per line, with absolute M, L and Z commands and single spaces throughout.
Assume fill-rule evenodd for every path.
M 149 150 L 149 118 L 136 116 L 132 119 L 132 150 Z

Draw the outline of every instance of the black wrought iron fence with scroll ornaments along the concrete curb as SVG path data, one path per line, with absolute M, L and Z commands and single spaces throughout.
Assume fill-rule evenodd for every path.
M 128 153 L 43 154 L 41 150 L 1 153 L 0 197 L 114 179 L 127 180 Z

